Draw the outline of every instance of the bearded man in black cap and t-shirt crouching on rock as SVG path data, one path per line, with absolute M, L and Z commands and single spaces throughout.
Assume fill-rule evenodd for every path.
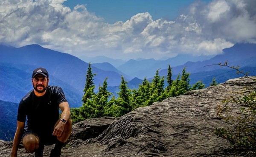
M 61 148 L 71 134 L 72 121 L 70 108 L 60 87 L 48 86 L 49 74 L 45 68 L 36 68 L 32 73 L 34 89 L 20 101 L 17 114 L 17 130 L 13 140 L 12 157 L 17 157 L 17 150 L 22 142 L 28 152 L 35 152 L 35 157 L 42 157 L 44 146 L 55 143 L 51 157 L 61 155 Z M 61 109 L 61 118 L 59 118 Z M 28 128 L 24 132 L 27 117 Z

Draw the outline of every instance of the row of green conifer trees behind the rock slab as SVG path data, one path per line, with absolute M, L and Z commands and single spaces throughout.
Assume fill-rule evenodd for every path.
M 94 93 L 94 84 L 92 68 L 88 67 L 87 79 L 84 88 L 83 105 L 79 108 L 71 109 L 71 118 L 73 123 L 84 121 L 87 118 L 99 118 L 102 116 L 120 117 L 128 112 L 131 112 L 138 107 L 145 107 L 153 104 L 156 101 L 162 101 L 168 97 L 174 97 L 186 93 L 189 90 L 204 88 L 202 81 L 198 81 L 195 85 L 190 87 L 189 73 L 186 68 L 183 68 L 182 75 L 177 76 L 175 81 L 172 80 L 172 68 L 169 65 L 166 81 L 167 87 L 164 88 L 164 76 L 159 76 L 159 70 L 156 71 L 152 82 L 146 78 L 137 90 L 131 90 L 127 87 L 127 81 L 121 76 L 120 91 L 118 97 L 108 92 L 107 78 L 103 86 L 99 86 L 98 93 Z M 112 96 L 112 97 L 111 97 Z M 110 99 L 109 99 L 110 98 Z

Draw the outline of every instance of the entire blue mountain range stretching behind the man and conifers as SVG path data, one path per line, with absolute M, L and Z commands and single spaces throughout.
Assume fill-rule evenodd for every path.
M 213 77 L 221 83 L 234 76 L 231 69 L 221 68 L 218 64 L 229 62 L 230 65 L 239 65 L 246 68 L 250 75 L 256 75 L 256 44 L 239 43 L 231 48 L 223 50 L 217 56 L 192 56 L 178 55 L 166 60 L 155 59 L 130 59 L 118 67 L 108 62 L 93 63 L 92 70 L 96 73 L 93 82 L 96 89 L 108 78 L 108 89 L 112 93 L 119 90 L 121 75 L 128 81 L 128 87 L 138 88 L 143 78 L 151 80 L 157 69 L 161 69 L 160 76 L 167 75 L 168 64 L 172 67 L 172 79 L 175 80 L 178 73 L 186 67 L 186 72 L 191 73 L 191 84 L 203 81 L 206 86 L 210 84 Z M 115 59 L 100 57 L 111 60 Z M 190 59 L 189 62 L 187 60 Z M 206 60 L 203 60 L 206 59 Z M 118 60 L 121 63 L 121 60 Z M 194 61 L 194 62 L 192 62 Z M 184 63 L 184 64 L 183 64 Z M 211 66 L 207 66 L 211 65 Z M 85 75 L 88 63 L 67 53 L 43 48 L 40 45 L 26 45 L 21 48 L 0 45 L 0 100 L 19 103 L 20 99 L 32 89 L 31 73 L 36 67 L 45 67 L 49 72 L 49 84 L 61 86 L 67 95 L 71 107 L 80 107 L 81 98 L 85 85 Z M 227 73 L 230 76 L 226 76 Z M 234 72 L 235 73 L 235 72 Z M 135 77 L 134 77 L 135 76 Z M 241 75 L 240 75 L 241 76 Z M 136 80 L 136 81 L 134 81 Z

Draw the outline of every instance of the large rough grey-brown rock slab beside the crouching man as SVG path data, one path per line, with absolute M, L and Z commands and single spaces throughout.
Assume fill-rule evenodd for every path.
M 256 82 L 244 77 L 235 78 L 167 98 L 118 119 L 108 119 L 104 123 L 109 126 L 97 136 L 87 136 L 92 134 L 97 123 L 92 127 L 90 123 L 80 122 L 74 125 L 71 140 L 62 154 L 66 157 L 253 156 L 255 154 L 251 152 L 235 151 L 226 140 L 213 133 L 216 127 L 227 125 L 216 115 L 218 105 L 231 93 L 243 91 L 245 87 L 255 88 Z M 75 130 L 79 132 L 75 133 Z M 45 155 L 49 154 L 47 149 Z M 5 156 L 10 153 L 10 144 L 0 142 L 0 150 L 4 151 L 0 156 Z M 19 154 L 32 155 L 22 148 Z

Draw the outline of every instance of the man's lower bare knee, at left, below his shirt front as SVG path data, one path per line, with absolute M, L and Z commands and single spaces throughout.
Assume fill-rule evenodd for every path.
M 27 134 L 22 140 L 23 146 L 28 152 L 34 152 L 39 148 L 39 137 L 33 134 Z

